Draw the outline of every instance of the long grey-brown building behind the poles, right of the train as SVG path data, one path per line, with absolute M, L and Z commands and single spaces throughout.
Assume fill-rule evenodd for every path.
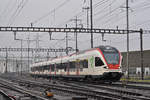
M 123 62 L 122 68 L 125 73 L 127 73 L 127 53 L 122 52 Z M 150 50 L 144 50 L 143 52 L 143 67 L 144 67 L 144 74 L 146 76 L 150 76 Z M 131 51 L 129 52 L 129 74 L 130 75 L 141 75 L 141 55 L 140 51 Z

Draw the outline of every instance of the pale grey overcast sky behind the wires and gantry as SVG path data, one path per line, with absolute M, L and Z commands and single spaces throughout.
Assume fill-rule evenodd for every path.
M 90 0 L 0 0 L 0 26 L 33 26 L 37 27 L 75 27 L 77 16 L 81 19 L 79 24 L 87 27 L 87 11 L 83 7 L 89 6 Z M 126 29 L 126 0 L 93 0 L 94 28 Z M 129 0 L 130 29 L 143 28 L 149 30 L 150 26 L 150 0 Z M 80 25 L 78 27 L 81 27 Z M 39 34 L 39 47 L 65 48 L 65 40 L 50 41 L 48 33 L 17 33 L 17 38 L 27 40 L 37 39 Z M 64 33 L 53 33 L 52 38 L 64 39 Z M 69 34 L 69 46 L 75 48 L 74 34 Z M 13 40 L 12 32 L 0 32 L 0 47 L 20 47 L 19 41 Z M 144 49 L 150 49 L 150 34 L 144 35 Z M 120 51 L 126 51 L 126 35 L 105 35 L 103 42 L 100 34 L 94 34 L 94 46 L 112 45 Z M 90 35 L 78 35 L 80 50 L 90 48 Z M 27 47 L 27 42 L 23 42 Z M 36 47 L 32 42 L 31 47 Z M 130 50 L 140 50 L 139 34 L 130 35 Z

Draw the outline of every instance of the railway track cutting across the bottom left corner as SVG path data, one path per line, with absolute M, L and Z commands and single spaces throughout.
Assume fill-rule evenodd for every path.
M 13 94 L 9 94 L 11 97 L 14 97 L 14 100 L 22 100 L 23 98 L 26 98 L 26 100 L 49 100 L 45 98 L 44 96 L 40 95 L 40 93 L 37 93 L 35 91 L 27 90 L 23 87 L 20 87 L 10 81 L 6 81 L 4 79 L 0 79 L 0 88 L 4 91 L 6 91 L 6 94 L 9 94 L 9 92 L 13 91 Z M 8 92 L 9 91 L 9 92 Z M 18 97 L 16 94 L 19 94 Z M 27 99 L 28 98 L 28 99 Z

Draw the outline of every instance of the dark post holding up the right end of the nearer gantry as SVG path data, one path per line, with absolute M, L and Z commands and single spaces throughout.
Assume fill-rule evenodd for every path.
M 144 79 L 144 68 L 143 68 L 143 30 L 140 29 L 140 46 L 141 46 L 141 79 Z

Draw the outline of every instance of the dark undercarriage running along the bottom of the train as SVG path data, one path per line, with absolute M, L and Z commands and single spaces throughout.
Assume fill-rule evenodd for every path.
M 47 78 L 50 80 L 62 79 L 73 81 L 87 81 L 87 82 L 117 82 L 122 77 L 120 72 L 107 72 L 103 75 L 47 75 L 47 74 L 31 74 L 34 78 Z

